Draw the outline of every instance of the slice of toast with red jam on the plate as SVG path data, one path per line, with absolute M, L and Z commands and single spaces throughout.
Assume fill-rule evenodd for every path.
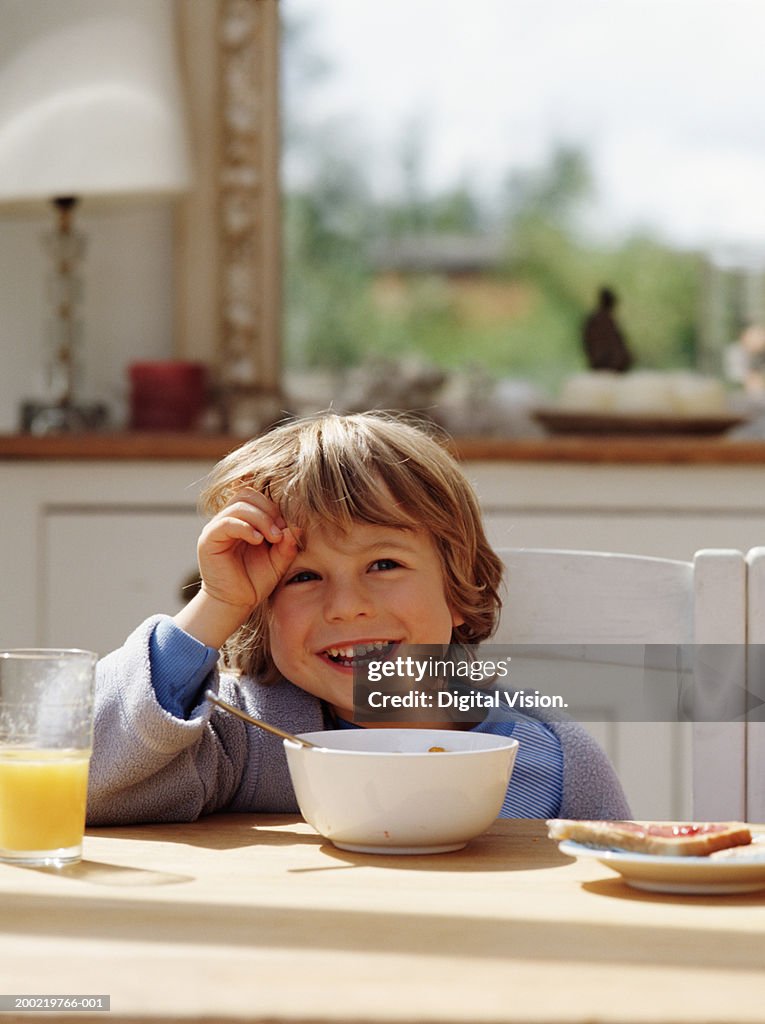
M 752 842 L 749 826 L 739 821 L 680 823 L 551 818 L 547 826 L 550 839 L 569 839 L 603 850 L 654 853 L 664 857 L 705 857 L 716 850 L 747 846 Z

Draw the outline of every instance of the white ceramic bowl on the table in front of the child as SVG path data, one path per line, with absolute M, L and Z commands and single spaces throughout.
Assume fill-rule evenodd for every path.
M 462 849 L 499 814 L 518 749 L 505 736 L 435 729 L 300 735 L 324 748 L 285 740 L 301 814 L 341 850 L 360 853 Z

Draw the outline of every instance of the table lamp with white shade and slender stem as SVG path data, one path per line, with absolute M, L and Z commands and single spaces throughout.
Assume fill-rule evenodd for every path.
M 2 0 L 0 204 L 53 203 L 53 338 L 38 433 L 93 425 L 77 400 L 84 198 L 170 196 L 189 184 L 173 0 Z

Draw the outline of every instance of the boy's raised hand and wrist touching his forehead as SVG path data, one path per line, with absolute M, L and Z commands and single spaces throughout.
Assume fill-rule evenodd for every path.
M 202 588 L 175 622 L 220 647 L 271 593 L 297 554 L 279 506 L 243 486 L 202 530 L 197 545 Z

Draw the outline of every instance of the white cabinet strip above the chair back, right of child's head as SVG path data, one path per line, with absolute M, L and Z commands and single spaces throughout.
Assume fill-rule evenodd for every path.
M 688 561 L 765 544 L 765 466 L 475 462 L 497 547 L 622 551 Z

